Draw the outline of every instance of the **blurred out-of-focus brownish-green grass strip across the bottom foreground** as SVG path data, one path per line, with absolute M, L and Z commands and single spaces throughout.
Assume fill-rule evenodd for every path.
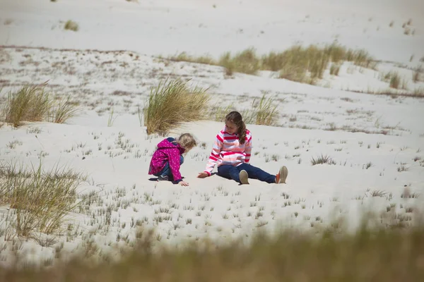
M 315 231 L 315 230 L 314 230 Z M 145 232 L 146 233 L 146 232 Z M 190 239 L 153 252 L 154 234 L 143 235 L 117 262 L 75 258 L 44 269 L 1 269 L 8 281 L 421 281 L 424 229 L 360 228 L 340 233 L 336 224 L 317 234 L 257 233 L 249 243 L 216 246 Z M 64 251 L 62 251 L 64 252 Z M 0 266 L 1 267 L 1 266 Z

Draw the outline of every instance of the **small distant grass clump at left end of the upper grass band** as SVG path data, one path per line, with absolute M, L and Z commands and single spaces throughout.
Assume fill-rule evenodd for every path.
M 225 68 L 227 75 L 232 75 L 234 72 L 254 75 L 261 68 L 261 60 L 257 56 L 256 50 L 249 48 L 235 54 L 235 56 L 231 56 L 230 52 L 223 54 L 220 56 L 218 65 Z

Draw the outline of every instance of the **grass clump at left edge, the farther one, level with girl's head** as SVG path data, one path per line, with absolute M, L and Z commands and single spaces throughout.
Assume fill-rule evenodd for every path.
M 76 116 L 81 108 L 70 97 L 53 99 L 45 85 L 25 85 L 9 92 L 3 106 L 4 121 L 18 127 L 23 121 L 52 121 L 64 123 Z

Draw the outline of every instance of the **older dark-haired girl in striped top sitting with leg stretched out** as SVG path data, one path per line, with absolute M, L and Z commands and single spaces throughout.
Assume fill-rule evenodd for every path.
M 276 176 L 249 164 L 252 151 L 252 134 L 246 129 L 242 115 L 232 111 L 225 116 L 225 128 L 216 135 L 211 155 L 205 171 L 198 178 L 211 176 L 218 164 L 218 176 L 232 179 L 241 184 L 249 184 L 248 178 L 259 179 L 266 183 L 285 183 L 288 170 L 281 166 Z

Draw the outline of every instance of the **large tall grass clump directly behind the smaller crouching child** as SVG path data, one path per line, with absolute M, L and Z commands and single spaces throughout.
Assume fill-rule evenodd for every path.
M 143 109 L 147 133 L 166 133 L 179 123 L 206 118 L 209 99 L 207 89 L 190 88 L 181 79 L 160 81 Z

